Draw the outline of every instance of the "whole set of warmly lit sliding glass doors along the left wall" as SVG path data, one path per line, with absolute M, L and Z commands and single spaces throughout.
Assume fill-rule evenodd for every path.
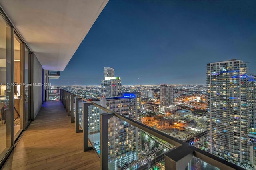
M 0 11 L 0 166 L 30 123 L 30 57 L 10 22 Z

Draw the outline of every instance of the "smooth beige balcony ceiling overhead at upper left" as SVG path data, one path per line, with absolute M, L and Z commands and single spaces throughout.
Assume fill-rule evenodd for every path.
M 43 69 L 63 71 L 108 0 L 0 0 Z

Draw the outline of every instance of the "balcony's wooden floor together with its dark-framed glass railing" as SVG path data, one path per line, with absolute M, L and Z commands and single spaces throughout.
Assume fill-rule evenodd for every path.
M 182 170 L 187 166 L 193 166 L 193 164 L 198 166 L 196 162 L 200 160 L 210 164 L 209 166 L 220 169 L 243 169 L 68 91 L 60 90 L 59 98 L 61 101 L 44 102 L 36 119 L 22 134 L 20 141 L 4 164 L 3 170 L 15 168 L 108 170 L 108 167 L 114 166 L 111 161 L 113 162 L 118 157 L 124 158 L 136 153 L 140 153 L 137 160 L 122 162 L 125 168 L 132 167 L 144 170 L 148 166 L 154 167 L 157 162 L 164 162 L 166 170 Z M 90 129 L 90 126 L 87 126 L 92 123 L 90 119 L 86 119 L 89 118 L 89 111 L 92 110 L 101 110 L 100 131 Z M 132 136 L 131 140 L 136 138 L 137 134 L 138 138 L 147 136 L 152 140 L 158 139 L 159 147 L 154 148 L 155 157 L 150 157 L 152 158 L 150 163 L 145 162 L 146 159 L 140 158 L 145 155 L 141 152 L 144 149 L 141 140 L 137 145 L 140 148 L 135 148 L 135 150 L 130 151 L 127 147 L 124 148 L 125 153 L 124 150 L 116 151 L 120 146 L 129 146 L 132 143 L 130 141 L 128 144 L 124 144 L 127 140 L 121 141 L 121 144 L 119 142 L 113 144 L 113 148 L 110 150 L 108 140 L 113 138 L 108 134 L 108 128 L 110 127 L 108 120 L 110 119 L 122 120 L 125 127 L 132 125 L 133 130 L 128 132 Z M 112 126 L 114 129 L 120 128 L 118 123 Z M 122 130 L 122 128 L 120 129 Z M 123 135 L 126 135 L 125 133 L 127 134 L 127 132 L 123 132 Z M 118 132 L 113 135 L 120 136 Z M 148 143 L 150 144 L 150 142 Z M 162 150 L 162 152 L 158 153 L 156 150 Z M 145 156 L 143 157 L 145 158 Z

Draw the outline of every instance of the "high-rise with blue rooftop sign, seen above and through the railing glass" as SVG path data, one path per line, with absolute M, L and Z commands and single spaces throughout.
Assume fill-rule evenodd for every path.
M 125 92 L 120 97 L 101 97 L 101 105 L 130 119 L 141 121 L 140 93 Z M 118 169 L 137 160 L 141 153 L 141 131 L 117 117 L 108 120 L 108 169 Z

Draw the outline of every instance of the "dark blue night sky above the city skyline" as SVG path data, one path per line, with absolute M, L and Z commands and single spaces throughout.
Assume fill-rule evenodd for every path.
M 256 74 L 256 1 L 109 1 L 53 85 L 206 84 L 210 62 Z

